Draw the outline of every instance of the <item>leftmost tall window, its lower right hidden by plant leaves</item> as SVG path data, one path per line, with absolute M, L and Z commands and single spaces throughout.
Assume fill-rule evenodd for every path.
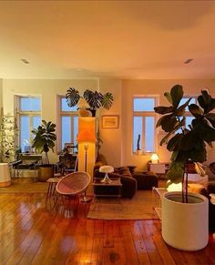
M 34 135 L 31 131 L 41 124 L 40 97 L 17 97 L 17 118 L 19 123 L 18 145 L 22 152 L 29 151 Z

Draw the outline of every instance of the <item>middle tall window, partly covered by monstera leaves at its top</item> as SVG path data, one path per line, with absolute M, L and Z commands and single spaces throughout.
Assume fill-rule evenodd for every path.
M 77 107 L 68 107 L 66 97 L 59 97 L 59 148 L 63 149 L 66 143 L 77 144 L 78 115 Z

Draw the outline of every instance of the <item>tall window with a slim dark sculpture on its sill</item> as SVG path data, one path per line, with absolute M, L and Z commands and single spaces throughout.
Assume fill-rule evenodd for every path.
M 133 98 L 133 152 L 137 150 L 138 135 L 140 135 L 140 148 L 145 153 L 155 151 L 156 114 L 154 107 L 156 105 L 157 97 Z

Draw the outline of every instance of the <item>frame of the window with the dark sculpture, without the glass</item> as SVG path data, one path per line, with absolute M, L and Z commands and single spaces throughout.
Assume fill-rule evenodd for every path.
M 154 107 L 159 106 L 159 96 L 158 95 L 134 95 L 132 97 L 132 154 L 136 154 L 136 149 L 134 145 L 134 117 L 142 117 L 142 136 L 141 136 L 141 148 L 143 150 L 143 155 L 150 155 L 158 150 L 158 138 L 157 138 L 157 128 L 156 123 L 158 121 L 158 114 L 153 111 L 142 110 L 142 111 L 135 111 L 134 110 L 134 101 L 135 98 L 153 98 L 154 99 Z M 154 117 L 154 150 L 146 151 L 146 138 L 145 136 L 145 129 L 146 129 L 146 117 Z

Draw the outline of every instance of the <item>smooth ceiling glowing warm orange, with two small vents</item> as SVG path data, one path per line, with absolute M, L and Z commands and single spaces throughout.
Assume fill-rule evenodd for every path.
M 0 78 L 74 77 L 214 78 L 215 2 L 1 1 Z

